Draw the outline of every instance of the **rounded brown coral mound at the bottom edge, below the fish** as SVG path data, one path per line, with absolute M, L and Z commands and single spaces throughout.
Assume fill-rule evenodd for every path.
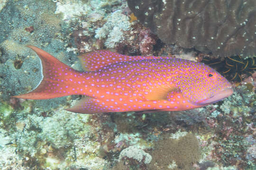
M 191 133 L 179 139 L 165 134 L 151 155 L 149 170 L 192 170 L 193 164 L 201 157 L 201 151 L 196 136 Z

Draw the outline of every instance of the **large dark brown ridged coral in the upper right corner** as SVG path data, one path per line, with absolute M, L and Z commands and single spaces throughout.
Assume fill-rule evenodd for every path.
M 255 0 L 128 0 L 165 43 L 221 57 L 256 54 Z

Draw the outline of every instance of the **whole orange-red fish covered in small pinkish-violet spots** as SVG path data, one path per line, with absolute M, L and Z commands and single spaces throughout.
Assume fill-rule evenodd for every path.
M 79 56 L 86 70 L 79 72 L 46 51 L 28 47 L 41 59 L 43 79 L 32 92 L 14 97 L 51 99 L 85 95 L 67 109 L 76 113 L 190 110 L 233 93 L 226 78 L 198 62 L 97 50 Z

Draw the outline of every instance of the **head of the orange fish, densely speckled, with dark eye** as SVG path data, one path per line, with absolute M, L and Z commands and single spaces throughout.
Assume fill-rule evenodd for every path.
M 208 105 L 233 93 L 231 83 L 216 70 L 203 63 L 192 65 L 192 68 L 186 70 L 186 83 L 179 85 L 181 93 L 190 102 L 201 106 Z

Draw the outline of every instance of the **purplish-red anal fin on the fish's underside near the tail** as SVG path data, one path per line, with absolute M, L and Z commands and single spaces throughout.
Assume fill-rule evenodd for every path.
M 100 102 L 97 102 L 98 99 L 85 96 L 83 99 L 75 103 L 71 108 L 65 109 L 74 113 L 83 113 L 83 114 L 95 114 L 95 113 L 104 113 L 108 112 L 108 108 L 105 108 L 104 105 L 101 105 Z

